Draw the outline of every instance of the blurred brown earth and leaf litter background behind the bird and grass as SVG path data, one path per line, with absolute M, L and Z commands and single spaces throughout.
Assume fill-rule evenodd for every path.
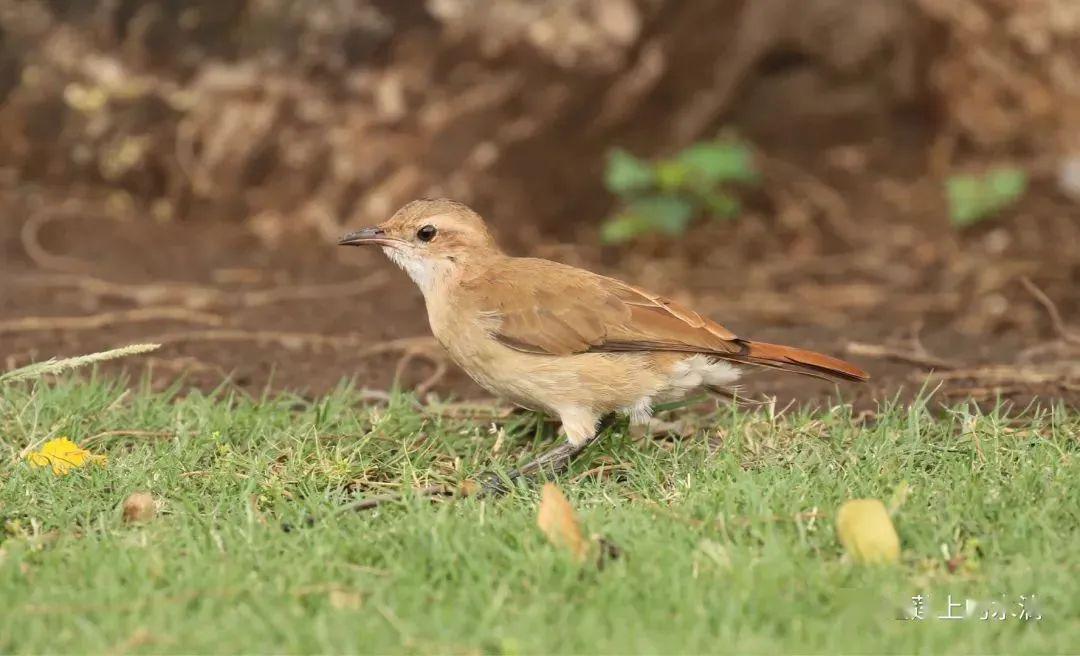
M 1080 396 L 1076 0 L 0 0 L 4 369 L 478 396 L 333 246 L 423 196 L 856 402 Z

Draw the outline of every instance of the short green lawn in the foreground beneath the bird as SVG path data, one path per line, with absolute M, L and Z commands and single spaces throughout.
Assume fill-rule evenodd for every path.
M 598 568 L 545 540 L 536 490 L 332 514 L 361 492 L 512 466 L 555 439 L 528 415 L 495 428 L 407 397 L 365 406 L 348 389 L 311 401 L 9 386 L 0 652 L 1075 651 L 1080 415 L 928 406 L 869 421 L 842 406 L 721 407 L 669 441 L 615 430 L 559 481 L 586 533 L 621 549 Z M 129 430 L 160 434 L 107 433 Z M 55 477 L 18 458 L 58 436 L 107 466 Z M 580 476 L 603 463 L 620 468 Z M 902 563 L 848 563 L 838 504 L 888 503 L 904 481 Z M 139 490 L 163 512 L 124 523 Z M 929 617 L 897 619 L 914 594 Z M 1004 595 L 1011 613 L 1035 594 L 1042 619 L 935 619 L 948 594 Z

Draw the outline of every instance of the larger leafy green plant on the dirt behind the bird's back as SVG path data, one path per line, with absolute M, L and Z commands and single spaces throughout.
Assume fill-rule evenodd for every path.
M 611 151 L 604 184 L 619 197 L 621 209 L 604 222 L 604 241 L 622 243 L 648 233 L 675 237 L 700 214 L 737 216 L 739 199 L 728 185 L 756 183 L 753 160 L 746 145 L 730 139 L 694 144 L 651 162 L 622 149 Z

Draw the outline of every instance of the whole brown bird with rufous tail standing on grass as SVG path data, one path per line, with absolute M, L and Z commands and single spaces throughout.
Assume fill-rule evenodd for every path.
M 420 287 L 435 338 L 476 383 L 555 415 L 567 441 L 512 476 L 558 469 L 612 413 L 649 419 L 653 404 L 724 388 L 740 365 L 862 381 L 853 364 L 752 342 L 673 300 L 548 259 L 503 253 L 478 214 L 418 200 L 340 245 L 382 247 Z

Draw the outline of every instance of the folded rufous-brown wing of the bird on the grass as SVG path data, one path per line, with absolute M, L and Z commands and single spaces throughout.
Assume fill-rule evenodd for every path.
M 548 260 L 510 260 L 470 286 L 492 335 L 521 351 L 745 350 L 734 333 L 671 299 Z

